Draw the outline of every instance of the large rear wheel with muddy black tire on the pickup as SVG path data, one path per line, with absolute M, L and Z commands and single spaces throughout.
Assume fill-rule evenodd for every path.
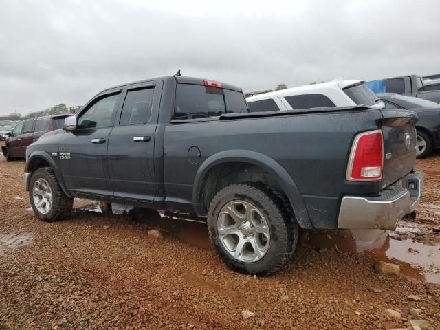
M 221 259 L 237 272 L 274 274 L 296 248 L 298 225 L 283 201 L 259 184 L 231 184 L 210 203 L 210 239 Z

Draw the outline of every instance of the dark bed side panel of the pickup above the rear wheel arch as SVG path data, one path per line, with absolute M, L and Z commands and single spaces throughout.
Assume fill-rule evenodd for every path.
M 211 155 L 255 151 L 274 159 L 291 175 L 314 227 L 336 228 L 342 195 L 380 191 L 380 182 L 345 180 L 354 135 L 377 129 L 380 120 L 380 111 L 369 109 L 168 124 L 164 138 L 166 200 L 192 205 L 197 171 Z M 192 146 L 201 151 L 197 164 L 188 161 Z

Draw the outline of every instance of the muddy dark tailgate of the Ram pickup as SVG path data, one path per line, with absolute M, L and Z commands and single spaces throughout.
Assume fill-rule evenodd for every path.
M 416 157 L 417 114 L 408 110 L 381 109 L 384 120 L 384 168 L 382 188 L 412 171 Z

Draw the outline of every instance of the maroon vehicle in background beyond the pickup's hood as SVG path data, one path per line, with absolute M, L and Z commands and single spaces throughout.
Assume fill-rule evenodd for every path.
M 14 158 L 25 158 L 26 148 L 39 140 L 44 133 L 61 129 L 66 117 L 67 115 L 54 115 L 19 122 L 12 132 L 8 133 L 5 146 L 1 147 L 3 155 L 8 161 Z

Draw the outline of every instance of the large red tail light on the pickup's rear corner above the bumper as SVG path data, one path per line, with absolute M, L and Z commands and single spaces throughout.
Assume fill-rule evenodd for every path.
M 347 180 L 376 181 L 382 179 L 384 138 L 382 131 L 369 131 L 356 136 L 351 147 Z

